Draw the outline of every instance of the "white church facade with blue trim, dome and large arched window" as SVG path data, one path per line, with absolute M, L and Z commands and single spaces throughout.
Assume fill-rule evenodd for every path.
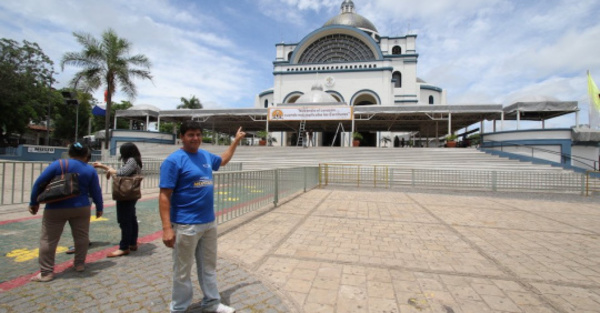
M 315 98 L 308 93 L 319 91 L 339 105 L 445 105 L 445 91 L 417 77 L 416 41 L 414 34 L 381 36 L 371 21 L 356 13 L 352 0 L 344 0 L 337 16 L 300 42 L 276 44 L 274 85 L 257 96 L 255 107 L 302 105 L 306 98 Z M 311 90 L 315 85 L 320 88 Z M 371 146 L 382 136 L 364 135 L 371 138 Z M 282 145 L 295 145 L 291 133 L 278 137 Z M 329 137 L 322 134 L 319 145 L 330 145 Z

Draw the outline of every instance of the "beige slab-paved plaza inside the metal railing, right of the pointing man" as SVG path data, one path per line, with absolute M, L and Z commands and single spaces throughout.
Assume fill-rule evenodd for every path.
M 220 238 L 302 312 L 600 312 L 600 204 L 313 190 Z

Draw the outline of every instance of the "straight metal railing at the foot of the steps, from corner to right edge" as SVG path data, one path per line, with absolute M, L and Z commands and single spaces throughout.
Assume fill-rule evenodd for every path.
M 498 192 L 588 194 L 598 176 L 576 172 L 435 170 L 386 165 L 320 164 L 321 185 L 376 188 L 417 187 Z

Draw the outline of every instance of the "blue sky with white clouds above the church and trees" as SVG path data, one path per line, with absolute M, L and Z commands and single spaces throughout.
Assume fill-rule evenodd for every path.
M 73 32 L 109 27 L 145 54 L 152 82 L 134 104 L 174 109 L 181 97 L 205 108 L 253 107 L 273 85 L 275 44 L 297 43 L 340 11 L 342 0 L 3 0 L 0 37 L 38 43 L 55 62 L 56 87 L 76 68 Z M 524 96 L 578 101 L 587 123 L 586 71 L 600 82 L 597 0 L 354 0 L 381 36 L 417 34 L 417 75 L 449 104 L 508 105 Z M 102 101 L 102 91 L 96 93 Z M 128 100 L 123 94 L 116 101 Z M 547 127 L 568 127 L 574 117 Z

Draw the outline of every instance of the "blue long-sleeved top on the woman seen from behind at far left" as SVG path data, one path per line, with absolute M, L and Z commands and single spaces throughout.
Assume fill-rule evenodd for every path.
M 62 160 L 63 166 L 65 161 Z M 104 209 L 104 202 L 102 201 L 102 189 L 100 188 L 100 180 L 98 179 L 98 172 L 93 166 L 75 159 L 68 159 L 69 167 L 68 173 L 79 173 L 79 191 L 81 194 L 77 197 L 66 199 L 63 201 L 57 201 L 46 204 L 46 209 L 67 209 L 67 208 L 79 208 L 90 205 L 89 197 L 92 197 L 96 204 L 96 211 L 102 211 Z M 54 176 L 61 174 L 60 160 L 56 160 L 42 172 L 40 177 L 33 184 L 31 192 L 31 198 L 29 205 L 36 205 L 37 197 L 42 192 L 40 185 L 49 182 Z

